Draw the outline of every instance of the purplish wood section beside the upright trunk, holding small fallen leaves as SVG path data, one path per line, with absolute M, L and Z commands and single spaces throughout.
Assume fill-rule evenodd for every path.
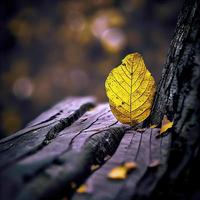
M 157 138 L 158 134 L 159 129 L 147 129 L 144 133 L 126 131 L 115 154 L 87 179 L 88 193 L 76 193 L 72 199 L 126 200 L 148 197 L 165 168 L 170 144 L 169 135 Z M 136 162 L 138 167 L 127 179 L 108 179 L 107 174 L 112 168 L 131 161 Z

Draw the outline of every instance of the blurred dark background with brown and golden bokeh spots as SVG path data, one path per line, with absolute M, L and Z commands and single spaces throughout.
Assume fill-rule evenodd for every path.
M 158 81 L 181 3 L 1 0 L 0 137 L 66 96 L 106 101 L 104 81 L 128 53 L 141 53 Z

